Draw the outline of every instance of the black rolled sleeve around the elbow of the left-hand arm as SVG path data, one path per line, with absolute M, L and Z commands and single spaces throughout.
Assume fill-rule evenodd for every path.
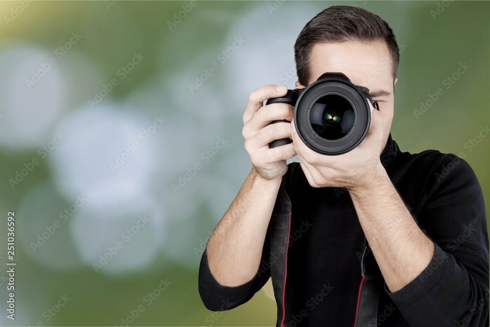
M 257 274 L 245 284 L 229 287 L 221 285 L 211 273 L 204 251 L 199 266 L 199 295 L 207 309 L 212 311 L 225 311 L 233 309 L 248 300 L 258 292 L 270 277 L 270 232 L 268 230 L 262 259 Z

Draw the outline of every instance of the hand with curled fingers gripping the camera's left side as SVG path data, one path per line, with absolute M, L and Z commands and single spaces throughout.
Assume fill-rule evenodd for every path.
M 269 85 L 252 91 L 243 116 L 242 135 L 245 138 L 245 150 L 250 155 L 253 170 L 264 179 L 281 178 L 286 174 L 286 159 L 296 155 L 293 144 L 269 148 L 269 143 L 284 138 L 291 138 L 291 123 L 276 123 L 274 120 L 293 120 L 294 108 L 286 103 L 263 105 L 270 98 L 286 95 L 284 85 Z

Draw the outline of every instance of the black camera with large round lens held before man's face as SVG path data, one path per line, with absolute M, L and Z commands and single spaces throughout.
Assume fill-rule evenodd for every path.
M 305 89 L 288 90 L 281 98 L 266 102 L 294 106 L 294 126 L 308 148 L 321 154 L 338 155 L 353 150 L 368 134 L 371 123 L 369 90 L 352 84 L 342 73 L 325 73 Z M 270 124 L 288 122 L 273 121 Z M 270 148 L 291 143 L 291 139 L 272 141 Z

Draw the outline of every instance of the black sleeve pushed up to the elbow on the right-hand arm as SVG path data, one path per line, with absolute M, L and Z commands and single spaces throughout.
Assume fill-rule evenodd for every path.
M 417 278 L 387 293 L 411 326 L 489 326 L 489 240 L 474 172 L 445 155 L 421 197 L 416 217 L 435 243 L 434 257 Z

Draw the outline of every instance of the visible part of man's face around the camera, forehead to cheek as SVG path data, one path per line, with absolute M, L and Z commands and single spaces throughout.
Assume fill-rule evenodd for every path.
M 346 41 L 317 43 L 310 58 L 311 79 L 308 85 L 323 73 L 343 73 L 355 85 L 365 86 L 373 101 L 378 101 L 383 117 L 383 146 L 388 140 L 393 120 L 394 83 L 392 59 L 383 41 L 361 43 Z M 296 82 L 296 87 L 303 85 Z

